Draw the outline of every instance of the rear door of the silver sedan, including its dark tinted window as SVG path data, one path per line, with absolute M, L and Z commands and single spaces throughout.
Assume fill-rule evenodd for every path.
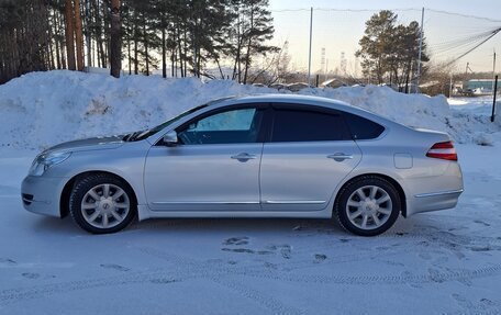
M 272 108 L 260 166 L 263 210 L 322 210 L 360 161 L 361 151 L 334 110 L 294 104 Z

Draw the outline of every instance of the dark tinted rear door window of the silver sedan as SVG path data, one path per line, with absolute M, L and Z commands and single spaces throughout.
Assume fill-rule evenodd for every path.
M 276 110 L 271 142 L 352 139 L 341 115 L 318 111 Z

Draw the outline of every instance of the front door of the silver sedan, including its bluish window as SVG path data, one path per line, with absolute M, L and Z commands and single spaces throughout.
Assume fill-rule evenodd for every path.
M 149 207 L 259 210 L 261 120 L 258 105 L 215 110 L 180 126 L 179 145 L 153 146 L 144 172 Z

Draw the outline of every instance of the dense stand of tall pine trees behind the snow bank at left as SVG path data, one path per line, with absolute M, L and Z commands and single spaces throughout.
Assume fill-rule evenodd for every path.
M 280 50 L 269 45 L 274 31 L 268 0 L 0 0 L 0 83 L 113 65 L 213 77 L 208 64 L 246 83 L 258 56 Z

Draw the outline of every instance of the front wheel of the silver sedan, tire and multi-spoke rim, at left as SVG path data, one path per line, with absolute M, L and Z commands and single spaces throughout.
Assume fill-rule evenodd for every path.
M 75 182 L 69 212 L 85 230 L 108 234 L 131 224 L 137 205 L 132 189 L 124 181 L 108 173 L 94 173 Z

